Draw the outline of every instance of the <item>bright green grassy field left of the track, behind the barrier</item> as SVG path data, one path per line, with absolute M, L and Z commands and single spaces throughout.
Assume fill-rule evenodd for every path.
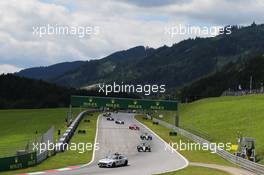
M 66 129 L 66 108 L 0 110 L 0 157 L 14 155 L 17 149 L 25 149 L 28 141 L 55 126 L 55 134 Z M 79 109 L 73 110 L 76 117 Z M 36 135 L 36 131 L 38 134 Z

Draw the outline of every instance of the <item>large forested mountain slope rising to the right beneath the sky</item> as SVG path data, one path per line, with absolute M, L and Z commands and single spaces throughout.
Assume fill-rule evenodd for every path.
M 263 46 L 264 25 L 233 26 L 230 35 L 187 39 L 171 47 L 152 49 L 138 46 L 116 52 L 50 76 L 48 81 L 72 87 L 113 81 L 155 83 L 174 89 L 211 74 L 230 62 L 261 55 Z M 25 76 L 21 72 L 18 75 Z M 41 76 L 38 78 L 42 79 Z

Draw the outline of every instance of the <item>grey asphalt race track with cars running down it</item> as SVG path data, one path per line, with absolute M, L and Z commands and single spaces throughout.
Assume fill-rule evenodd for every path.
M 80 169 L 52 174 L 73 175 L 150 175 L 182 169 L 188 165 L 187 160 L 177 152 L 165 151 L 165 142 L 141 125 L 134 119 L 134 114 L 112 113 L 112 117 L 121 119 L 124 125 L 107 121 L 105 117 L 98 119 L 97 143 L 100 149 L 95 151 L 94 161 Z M 128 126 L 137 124 L 139 131 L 129 130 Z M 153 139 L 150 142 L 152 152 L 137 152 L 141 133 L 148 132 Z M 129 163 L 126 167 L 99 168 L 98 160 L 105 158 L 110 153 L 121 153 L 128 157 Z

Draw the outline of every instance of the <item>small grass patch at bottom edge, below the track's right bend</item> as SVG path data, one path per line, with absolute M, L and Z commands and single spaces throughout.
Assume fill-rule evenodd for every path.
M 171 173 L 164 173 L 161 175 L 230 175 L 230 174 L 210 168 L 189 166 L 183 170 L 179 170 Z

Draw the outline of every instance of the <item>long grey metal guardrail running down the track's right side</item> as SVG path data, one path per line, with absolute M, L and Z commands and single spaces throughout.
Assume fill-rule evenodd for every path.
M 149 119 L 150 116 L 147 116 Z M 178 128 L 172 124 L 169 124 L 163 120 L 159 120 L 159 119 L 156 119 L 156 118 L 153 118 L 153 121 L 154 122 L 159 122 L 160 125 L 163 125 L 165 126 L 166 128 L 169 128 L 169 129 L 173 129 L 175 130 L 177 133 L 179 133 L 180 135 L 183 135 L 185 137 L 187 137 L 188 139 L 194 141 L 194 142 L 197 142 L 199 144 L 210 144 L 209 141 L 199 137 L 199 136 L 196 136 L 184 129 L 181 129 L 181 128 Z M 212 150 L 216 150 L 216 153 L 218 155 L 220 155 L 222 158 L 234 163 L 234 164 L 237 164 L 239 165 L 241 168 L 244 168 L 244 169 L 247 169 L 253 173 L 256 173 L 256 174 L 259 174 L 259 175 L 263 175 L 264 174 L 264 166 L 261 165 L 261 164 L 258 164 L 258 163 L 255 163 L 255 162 L 252 162 L 252 161 L 249 161 L 247 159 L 243 159 L 241 157 L 238 157 L 238 156 L 235 156 L 223 149 L 220 149 L 220 148 L 217 148 L 217 147 L 213 147 L 212 145 Z

